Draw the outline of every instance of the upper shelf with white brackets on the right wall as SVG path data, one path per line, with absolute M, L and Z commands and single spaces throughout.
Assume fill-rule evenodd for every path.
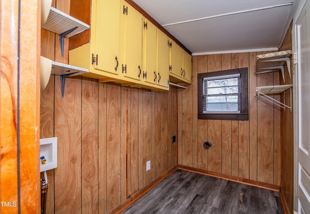
M 256 56 L 255 74 L 281 71 L 283 82 L 285 83 L 284 65 L 286 65 L 291 78 L 291 56 L 292 50 L 258 55 Z

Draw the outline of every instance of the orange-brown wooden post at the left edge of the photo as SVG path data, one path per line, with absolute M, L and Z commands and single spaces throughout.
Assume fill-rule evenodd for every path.
M 39 3 L 39 5 L 38 5 Z M 40 1 L 0 5 L 0 213 L 40 213 Z

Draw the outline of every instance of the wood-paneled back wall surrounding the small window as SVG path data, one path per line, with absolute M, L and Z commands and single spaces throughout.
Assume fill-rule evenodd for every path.
M 279 72 L 254 74 L 259 54 L 193 57 L 193 84 L 178 89 L 179 164 L 280 185 L 281 110 L 254 98 L 256 86 L 279 85 Z M 249 120 L 198 120 L 197 74 L 243 67 L 248 68 Z M 206 141 L 212 143 L 209 149 L 203 147 Z

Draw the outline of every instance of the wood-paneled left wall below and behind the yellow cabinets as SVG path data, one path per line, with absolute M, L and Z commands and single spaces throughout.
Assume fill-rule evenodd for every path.
M 69 14 L 70 1 L 56 8 Z M 42 29 L 41 55 L 60 56 Z M 107 213 L 177 165 L 177 89 L 150 92 L 86 77 L 51 75 L 41 93 L 41 138 L 58 137 L 58 167 L 47 171 L 47 213 Z M 146 161 L 151 170 L 146 171 Z

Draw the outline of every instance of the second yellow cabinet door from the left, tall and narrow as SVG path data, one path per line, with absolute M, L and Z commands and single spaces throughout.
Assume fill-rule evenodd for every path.
M 124 21 L 124 63 L 123 74 L 135 80 L 141 80 L 140 69 L 142 66 L 142 15 L 132 6 L 126 4 Z

